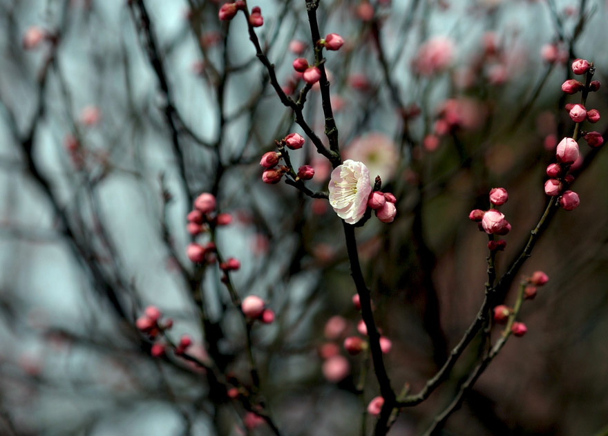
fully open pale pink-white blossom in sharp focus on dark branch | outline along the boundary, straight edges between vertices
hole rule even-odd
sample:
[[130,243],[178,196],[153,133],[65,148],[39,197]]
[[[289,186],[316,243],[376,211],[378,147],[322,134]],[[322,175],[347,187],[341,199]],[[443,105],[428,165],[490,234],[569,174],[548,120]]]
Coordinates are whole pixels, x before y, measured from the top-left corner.
[[345,160],[332,171],[329,188],[330,205],[340,218],[348,224],[363,218],[372,192],[368,167],[361,162]]

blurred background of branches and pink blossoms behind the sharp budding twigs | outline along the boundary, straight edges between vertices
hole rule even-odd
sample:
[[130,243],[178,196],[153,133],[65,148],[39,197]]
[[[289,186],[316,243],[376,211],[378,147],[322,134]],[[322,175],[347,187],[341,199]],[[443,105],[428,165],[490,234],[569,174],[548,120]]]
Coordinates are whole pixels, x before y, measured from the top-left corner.
[[[305,1],[252,6],[281,86],[297,95],[292,61],[312,61]],[[269,86],[243,15],[222,22],[219,8],[0,0],[1,435],[271,434],[240,401],[213,395],[205,371],[171,352],[151,357],[134,327],[155,305],[173,319],[174,341],[191,335],[193,354],[251,385],[245,329],[217,266],[186,256],[186,215],[202,192],[233,217],[214,238],[240,260],[238,294],[276,313],[251,339],[281,434],[370,434],[363,412],[377,381],[369,359],[341,349],[361,319],[341,222],[326,200],[262,182],[261,155],[303,132]],[[509,191],[499,274],[540,218],[544,169],[573,131],[563,107],[580,97],[560,85],[576,57],[602,82],[587,108],[606,111],[606,4],[321,1],[318,17],[322,35],[345,39],[325,53],[343,157],[368,164],[397,197],[395,221],[372,217],[357,238],[392,341],[393,387],[416,391],[484,296],[487,238],[468,212],[488,208],[492,187]],[[314,88],[304,115],[325,140]],[[582,129],[605,136],[606,126]],[[538,269],[550,278],[524,304],[529,331],[507,343],[444,435],[608,434],[608,157],[584,140],[580,149],[581,205],[555,214],[515,281]],[[331,167],[310,141],[291,157],[314,167],[312,189],[327,189]],[[333,316],[343,328],[325,328]],[[348,362],[338,379],[323,371],[327,343]],[[421,434],[480,344],[390,434]]]

